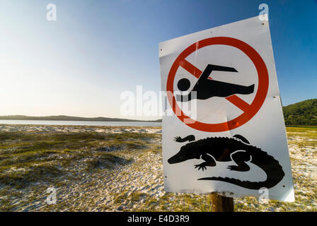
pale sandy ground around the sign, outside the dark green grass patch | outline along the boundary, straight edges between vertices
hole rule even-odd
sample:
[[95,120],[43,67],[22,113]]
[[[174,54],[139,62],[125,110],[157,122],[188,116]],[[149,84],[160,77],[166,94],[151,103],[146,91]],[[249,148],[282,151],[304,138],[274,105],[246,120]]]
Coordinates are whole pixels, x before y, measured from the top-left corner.
[[[153,145],[161,145],[161,128],[113,126],[28,126],[0,125],[0,131],[37,133],[155,133]],[[317,211],[317,130],[288,131],[296,201],[259,203],[255,198],[235,198],[236,211]],[[309,143],[307,143],[309,142]],[[54,182],[37,182],[23,189],[0,185],[0,201],[11,211],[209,211],[207,196],[167,194],[163,191],[161,152],[113,150],[129,164],[115,163],[112,169],[86,172],[78,162]],[[84,161],[84,160],[83,160]],[[10,170],[23,170],[12,168]],[[56,189],[56,204],[47,203],[47,188]],[[3,202],[4,203],[4,202]],[[4,205],[4,204],[2,204]],[[3,208],[2,210],[6,210]]]

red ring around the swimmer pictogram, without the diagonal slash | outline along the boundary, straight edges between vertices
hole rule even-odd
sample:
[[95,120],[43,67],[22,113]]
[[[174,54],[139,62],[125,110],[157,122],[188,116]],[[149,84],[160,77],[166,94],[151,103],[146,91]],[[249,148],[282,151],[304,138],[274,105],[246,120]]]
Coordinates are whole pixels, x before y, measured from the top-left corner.
[[[251,61],[253,61],[253,64],[255,65],[255,69],[258,72],[258,91],[255,95],[255,98],[248,107],[248,110],[246,112],[243,112],[243,114],[239,115],[235,119],[232,119],[231,121],[226,121],[219,124],[207,124],[200,121],[194,121],[193,123],[185,123],[185,119],[190,119],[178,106],[177,102],[175,101],[174,90],[173,90],[173,84],[174,84],[174,78],[176,71],[178,70],[178,67],[182,63],[182,61],[185,61],[186,57],[188,57],[192,52],[195,52],[197,49],[200,49],[202,47],[207,47],[212,44],[224,44],[229,45],[231,47],[236,47],[237,49],[240,49],[243,53],[245,53]],[[267,95],[267,90],[269,87],[269,76],[267,72],[267,67],[265,66],[265,63],[260,57],[260,54],[253,49],[253,47],[250,47],[250,45],[246,44],[246,42],[242,42],[241,40],[237,40],[232,37],[209,37],[204,40],[200,40],[198,42],[195,42],[194,44],[190,45],[190,47],[186,48],[174,61],[170,72],[168,73],[168,79],[167,79],[167,87],[166,90],[169,91],[168,93],[168,102],[170,103],[173,112],[175,115],[180,119],[180,121],[183,121],[184,124],[192,127],[193,129],[197,129],[200,131],[205,132],[222,132],[222,131],[229,131],[231,129],[236,129],[239,126],[242,126],[247,121],[249,121],[253,116],[258,112],[260,107],[263,105],[263,102],[265,100],[265,97]],[[175,105],[173,105],[175,103]],[[180,114],[176,114],[176,112],[179,112]],[[190,119],[193,120],[193,119]]]

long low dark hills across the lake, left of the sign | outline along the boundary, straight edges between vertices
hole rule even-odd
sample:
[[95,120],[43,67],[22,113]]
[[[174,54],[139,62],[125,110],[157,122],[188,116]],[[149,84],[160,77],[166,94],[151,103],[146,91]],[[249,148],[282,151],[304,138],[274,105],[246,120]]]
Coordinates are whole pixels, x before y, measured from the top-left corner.
[[[132,119],[118,119],[118,118],[105,118],[105,117],[71,117],[66,115],[57,116],[45,116],[45,117],[34,117],[25,115],[7,115],[0,116],[1,120],[47,120],[47,121],[144,121],[144,120],[132,120]],[[161,119],[153,121],[162,121]]]

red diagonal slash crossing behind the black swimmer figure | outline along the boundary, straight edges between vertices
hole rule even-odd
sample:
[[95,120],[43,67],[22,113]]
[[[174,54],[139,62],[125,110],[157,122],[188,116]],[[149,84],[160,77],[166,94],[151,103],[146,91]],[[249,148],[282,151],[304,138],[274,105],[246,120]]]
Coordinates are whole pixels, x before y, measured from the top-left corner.
[[[202,71],[200,71],[200,69],[197,69],[197,67],[190,64],[190,62],[188,62],[185,59],[180,61],[180,66],[182,66],[183,69],[191,73],[196,78],[200,78],[200,75],[202,74]],[[210,76],[209,78],[212,79]],[[229,102],[231,102],[231,104],[243,110],[243,112],[248,111],[248,109],[250,108],[250,105],[244,100],[242,100],[240,97],[238,97],[237,95],[231,95],[230,97],[226,97],[226,100],[228,100]]]

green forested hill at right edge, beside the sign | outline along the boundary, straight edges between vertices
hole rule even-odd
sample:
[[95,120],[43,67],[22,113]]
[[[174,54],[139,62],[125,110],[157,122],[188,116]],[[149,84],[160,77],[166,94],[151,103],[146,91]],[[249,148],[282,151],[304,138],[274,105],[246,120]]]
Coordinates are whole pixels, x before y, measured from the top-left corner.
[[317,126],[317,99],[283,107],[286,125]]

